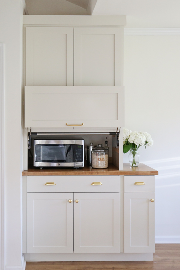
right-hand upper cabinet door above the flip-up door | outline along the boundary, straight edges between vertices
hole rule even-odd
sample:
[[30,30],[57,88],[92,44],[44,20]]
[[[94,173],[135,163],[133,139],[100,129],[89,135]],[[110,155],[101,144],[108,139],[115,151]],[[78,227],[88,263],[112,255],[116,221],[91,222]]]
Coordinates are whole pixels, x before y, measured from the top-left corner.
[[123,85],[123,28],[74,28],[74,85]]

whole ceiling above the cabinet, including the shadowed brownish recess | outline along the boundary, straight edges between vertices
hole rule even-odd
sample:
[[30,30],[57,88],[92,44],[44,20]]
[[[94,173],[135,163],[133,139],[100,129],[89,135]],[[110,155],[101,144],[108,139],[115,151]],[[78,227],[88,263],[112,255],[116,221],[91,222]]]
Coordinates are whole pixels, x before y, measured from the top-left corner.
[[26,4],[30,15],[126,15],[130,28],[180,27],[180,0],[26,0]]

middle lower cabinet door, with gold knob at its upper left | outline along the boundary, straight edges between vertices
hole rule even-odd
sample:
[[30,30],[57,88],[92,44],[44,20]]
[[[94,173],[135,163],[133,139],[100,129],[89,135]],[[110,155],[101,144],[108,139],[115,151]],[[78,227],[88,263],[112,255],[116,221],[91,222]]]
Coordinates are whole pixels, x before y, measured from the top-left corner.
[[119,252],[119,193],[74,193],[74,253]]

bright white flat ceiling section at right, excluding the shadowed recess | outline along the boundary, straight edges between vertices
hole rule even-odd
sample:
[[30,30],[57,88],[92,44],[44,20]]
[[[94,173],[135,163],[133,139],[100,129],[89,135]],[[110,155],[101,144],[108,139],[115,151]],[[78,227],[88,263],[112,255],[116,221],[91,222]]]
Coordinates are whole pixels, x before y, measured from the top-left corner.
[[126,27],[180,27],[180,0],[98,0],[92,15],[127,15]]

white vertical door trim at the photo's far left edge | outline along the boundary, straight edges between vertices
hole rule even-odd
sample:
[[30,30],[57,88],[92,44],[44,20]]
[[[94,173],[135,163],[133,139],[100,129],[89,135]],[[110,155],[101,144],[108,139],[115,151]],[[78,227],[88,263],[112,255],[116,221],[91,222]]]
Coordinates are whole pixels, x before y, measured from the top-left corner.
[[0,43],[0,269],[4,270],[4,44]]

